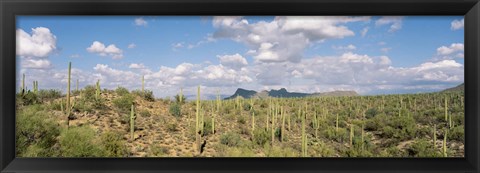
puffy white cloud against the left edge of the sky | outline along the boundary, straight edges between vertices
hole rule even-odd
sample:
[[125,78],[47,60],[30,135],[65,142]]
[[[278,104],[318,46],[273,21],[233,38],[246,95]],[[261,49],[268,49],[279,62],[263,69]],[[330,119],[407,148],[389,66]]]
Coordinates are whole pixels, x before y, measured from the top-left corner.
[[57,48],[57,37],[48,28],[32,28],[31,35],[17,29],[16,34],[17,56],[47,58]]

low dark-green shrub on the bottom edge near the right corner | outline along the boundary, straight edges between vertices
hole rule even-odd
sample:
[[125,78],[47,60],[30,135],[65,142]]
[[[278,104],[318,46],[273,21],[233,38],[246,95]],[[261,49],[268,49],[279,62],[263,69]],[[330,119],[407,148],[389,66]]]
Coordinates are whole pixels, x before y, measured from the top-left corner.
[[406,151],[411,157],[442,157],[442,153],[425,139],[416,140]]

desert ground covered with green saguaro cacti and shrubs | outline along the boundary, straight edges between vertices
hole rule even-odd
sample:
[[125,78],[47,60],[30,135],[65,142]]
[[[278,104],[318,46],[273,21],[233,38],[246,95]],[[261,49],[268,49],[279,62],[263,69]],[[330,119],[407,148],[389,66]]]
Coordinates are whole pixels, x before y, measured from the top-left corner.
[[[463,157],[464,92],[187,100],[22,86],[19,157]],[[73,86],[73,85],[72,85]]]

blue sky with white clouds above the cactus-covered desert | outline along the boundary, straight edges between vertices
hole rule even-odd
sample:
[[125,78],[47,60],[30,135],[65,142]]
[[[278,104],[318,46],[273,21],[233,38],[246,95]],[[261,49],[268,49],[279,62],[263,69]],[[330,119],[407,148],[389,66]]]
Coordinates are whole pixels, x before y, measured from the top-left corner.
[[[418,93],[464,80],[463,16],[20,16],[17,85]],[[17,87],[18,88],[18,87]],[[202,95],[203,95],[202,94]]]

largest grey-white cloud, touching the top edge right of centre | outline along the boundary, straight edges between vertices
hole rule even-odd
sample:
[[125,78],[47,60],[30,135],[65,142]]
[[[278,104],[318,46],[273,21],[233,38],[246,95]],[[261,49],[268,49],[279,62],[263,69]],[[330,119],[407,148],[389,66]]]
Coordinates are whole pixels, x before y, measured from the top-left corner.
[[369,21],[370,17],[280,16],[271,22],[250,23],[243,17],[214,17],[213,38],[228,38],[246,44],[258,62],[296,62],[315,42],[355,35],[345,24]]

